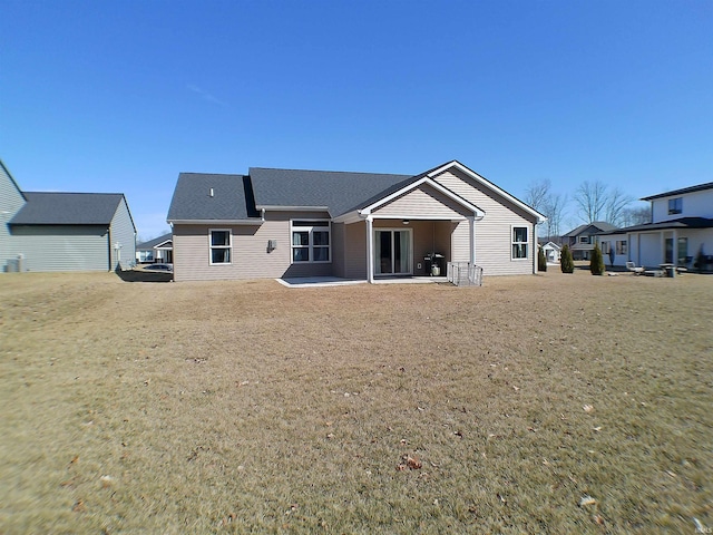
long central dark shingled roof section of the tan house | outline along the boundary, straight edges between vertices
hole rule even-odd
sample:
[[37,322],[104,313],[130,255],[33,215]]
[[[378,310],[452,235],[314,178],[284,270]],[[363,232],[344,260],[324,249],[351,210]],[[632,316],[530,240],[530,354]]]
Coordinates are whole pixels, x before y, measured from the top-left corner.
[[413,178],[410,175],[349,173],[332,171],[296,171],[251,167],[250,177],[256,206],[326,206],[336,217],[395,184]]

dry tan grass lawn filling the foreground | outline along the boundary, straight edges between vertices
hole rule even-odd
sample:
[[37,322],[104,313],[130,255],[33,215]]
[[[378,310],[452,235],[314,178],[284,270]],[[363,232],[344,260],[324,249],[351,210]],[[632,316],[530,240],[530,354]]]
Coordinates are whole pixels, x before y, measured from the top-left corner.
[[0,276],[0,532],[711,527],[712,302],[704,275]]

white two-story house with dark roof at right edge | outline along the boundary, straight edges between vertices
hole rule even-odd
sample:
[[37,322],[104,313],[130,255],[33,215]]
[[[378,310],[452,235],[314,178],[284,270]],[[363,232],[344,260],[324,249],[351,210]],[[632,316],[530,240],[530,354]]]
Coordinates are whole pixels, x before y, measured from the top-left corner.
[[[668,263],[713,269],[713,182],[642,201],[651,202],[652,222],[599,234],[597,239],[605,259],[613,244],[625,241],[627,250],[616,251],[615,265],[632,261],[646,268]],[[695,265],[699,255],[703,265]]]

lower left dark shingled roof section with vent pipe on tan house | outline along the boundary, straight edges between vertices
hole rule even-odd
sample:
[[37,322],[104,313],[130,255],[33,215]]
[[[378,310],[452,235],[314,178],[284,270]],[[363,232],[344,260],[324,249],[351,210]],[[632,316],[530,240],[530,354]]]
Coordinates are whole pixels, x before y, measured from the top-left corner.
[[250,178],[243,175],[180,173],[167,220],[257,218],[252,196]]

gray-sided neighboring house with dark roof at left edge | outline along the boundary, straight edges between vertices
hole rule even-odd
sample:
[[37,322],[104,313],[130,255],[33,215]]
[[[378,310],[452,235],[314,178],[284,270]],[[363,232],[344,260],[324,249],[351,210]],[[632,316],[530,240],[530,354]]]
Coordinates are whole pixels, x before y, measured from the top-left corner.
[[0,162],[0,271],[114,271],[135,257],[124,194],[22,192]]

